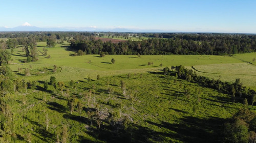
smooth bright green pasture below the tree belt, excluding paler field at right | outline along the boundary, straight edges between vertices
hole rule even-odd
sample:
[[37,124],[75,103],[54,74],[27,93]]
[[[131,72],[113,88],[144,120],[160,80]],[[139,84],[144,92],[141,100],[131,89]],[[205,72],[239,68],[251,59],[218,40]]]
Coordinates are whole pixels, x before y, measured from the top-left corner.
[[[54,75],[59,77],[59,80],[69,81],[88,78],[88,76],[96,79],[98,74],[103,77],[127,73],[145,73],[163,69],[166,66],[191,67],[208,64],[244,63],[232,56],[216,55],[141,55],[140,58],[137,55],[106,55],[104,58],[99,57],[99,55],[72,56],[74,51],[68,49],[68,43],[47,48],[46,42],[38,42],[37,47],[41,52],[43,48],[48,49],[51,58],[48,59],[47,56],[43,56],[38,51],[37,62],[23,63],[22,61],[26,59],[25,52],[22,51],[22,47],[18,47],[12,55],[11,69],[17,71],[18,68],[30,68],[34,74],[27,77],[29,80],[46,80]],[[115,59],[115,64],[111,63],[111,59]],[[153,65],[148,66],[148,62],[153,63]],[[160,67],[160,64],[163,67]],[[61,67],[61,72],[36,74],[44,68],[53,69],[54,65]]]

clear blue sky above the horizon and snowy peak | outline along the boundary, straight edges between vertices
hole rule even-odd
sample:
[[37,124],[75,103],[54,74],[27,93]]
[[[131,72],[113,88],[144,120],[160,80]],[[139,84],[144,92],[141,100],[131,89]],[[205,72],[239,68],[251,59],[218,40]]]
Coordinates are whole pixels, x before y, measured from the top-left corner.
[[256,1],[3,1],[0,26],[256,33]]

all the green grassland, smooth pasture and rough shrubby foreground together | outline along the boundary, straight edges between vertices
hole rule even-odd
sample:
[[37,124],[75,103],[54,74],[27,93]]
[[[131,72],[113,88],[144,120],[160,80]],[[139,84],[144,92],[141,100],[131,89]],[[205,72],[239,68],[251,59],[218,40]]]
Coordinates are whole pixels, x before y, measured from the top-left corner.
[[[45,46],[46,42],[37,43],[39,51]],[[100,58],[99,55],[72,56],[74,51],[68,49],[68,43],[47,49],[50,59],[38,52],[38,61],[30,63],[23,63],[26,56],[22,47],[14,50],[11,69],[20,78],[36,80],[36,89],[28,92],[20,89],[1,97],[11,106],[10,130],[16,135],[0,137],[0,142],[56,142],[58,138],[61,141],[63,126],[68,128],[67,142],[72,143],[220,142],[223,124],[244,106],[231,102],[230,95],[174,76],[164,76],[161,70],[166,66],[193,66],[199,75],[209,78],[229,82],[241,78],[243,84],[251,88],[256,81],[255,62],[249,61],[255,53],[141,55],[141,58],[106,55]],[[112,58],[115,64],[111,63]],[[148,62],[153,65],[148,66]],[[61,68],[53,72],[54,65]],[[18,71],[20,68],[22,70]],[[24,75],[26,68],[30,69],[30,76]],[[98,74],[100,80],[95,80]],[[63,94],[53,85],[44,89],[42,81],[49,82],[51,76],[64,81]],[[94,80],[88,81],[89,76]],[[76,88],[70,87],[70,80],[75,81]],[[120,88],[121,80],[126,84],[125,96]],[[184,90],[187,88],[189,94]],[[72,113],[68,104],[71,99],[74,101]],[[83,106],[81,113],[78,102]],[[120,108],[116,103],[121,103]],[[254,106],[248,107],[255,110]],[[100,129],[95,120],[91,125],[88,115],[88,111],[97,110]],[[122,126],[112,127],[108,119],[111,112],[119,113],[119,122],[124,116],[129,117],[130,128],[124,131]]]

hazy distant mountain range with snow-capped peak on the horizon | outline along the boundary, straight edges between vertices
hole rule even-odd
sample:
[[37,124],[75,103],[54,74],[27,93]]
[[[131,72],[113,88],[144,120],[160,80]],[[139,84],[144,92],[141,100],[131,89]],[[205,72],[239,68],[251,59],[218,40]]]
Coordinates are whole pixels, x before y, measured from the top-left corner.
[[29,23],[24,23],[23,25],[8,28],[0,27],[0,32],[30,32],[30,31],[84,31],[84,32],[166,32],[162,30],[135,30],[129,28],[95,28],[95,27],[80,27],[80,28],[43,28],[32,26]]

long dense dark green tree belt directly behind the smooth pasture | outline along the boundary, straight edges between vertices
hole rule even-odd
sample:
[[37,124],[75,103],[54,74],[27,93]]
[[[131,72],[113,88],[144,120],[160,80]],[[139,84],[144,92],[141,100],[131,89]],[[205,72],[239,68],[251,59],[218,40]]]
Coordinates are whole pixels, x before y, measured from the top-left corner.
[[142,41],[112,43],[92,36],[75,36],[70,47],[86,54],[210,54],[227,55],[256,51],[256,36],[251,35],[176,35],[169,39],[149,38]]

